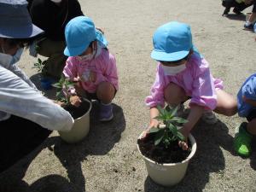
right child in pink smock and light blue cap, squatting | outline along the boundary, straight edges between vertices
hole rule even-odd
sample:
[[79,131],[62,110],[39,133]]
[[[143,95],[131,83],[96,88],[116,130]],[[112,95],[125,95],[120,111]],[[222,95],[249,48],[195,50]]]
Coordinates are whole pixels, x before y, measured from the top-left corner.
[[[236,99],[223,89],[223,82],[214,79],[210,73],[208,62],[196,51],[192,44],[190,27],[187,24],[173,21],[160,26],[153,37],[154,50],[151,57],[158,61],[156,78],[147,96],[146,104],[150,108],[150,123],[148,130],[157,127],[159,122],[156,108],[165,107],[165,102],[171,107],[178,106],[182,110],[183,102],[190,99],[188,123],[184,124],[181,132],[184,137],[194,127],[202,114],[209,123],[216,123],[212,113],[234,115]],[[180,143],[183,149],[187,143]]]

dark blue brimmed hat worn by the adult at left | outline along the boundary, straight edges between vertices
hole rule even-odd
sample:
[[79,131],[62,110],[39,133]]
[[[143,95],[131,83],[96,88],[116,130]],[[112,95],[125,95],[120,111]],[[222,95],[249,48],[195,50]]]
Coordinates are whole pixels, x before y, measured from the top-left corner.
[[32,24],[26,0],[0,0],[0,37],[32,38],[44,32]]

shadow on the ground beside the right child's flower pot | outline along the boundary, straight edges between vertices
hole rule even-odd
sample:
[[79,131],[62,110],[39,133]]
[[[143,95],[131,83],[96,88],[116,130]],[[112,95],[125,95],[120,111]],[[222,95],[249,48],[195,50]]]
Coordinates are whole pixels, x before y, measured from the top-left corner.
[[225,160],[221,148],[233,154],[233,137],[228,127],[221,121],[216,125],[199,122],[192,131],[197,143],[195,156],[190,160],[187,173],[181,183],[171,188],[160,186],[147,177],[144,183],[145,192],[164,191],[202,191],[209,183],[211,172],[224,176]]

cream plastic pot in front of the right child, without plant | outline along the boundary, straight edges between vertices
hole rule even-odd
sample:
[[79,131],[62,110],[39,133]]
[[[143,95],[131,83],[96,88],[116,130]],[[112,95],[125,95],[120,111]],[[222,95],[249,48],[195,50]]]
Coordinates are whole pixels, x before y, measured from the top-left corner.
[[[141,134],[139,138],[141,137],[143,137],[143,134]],[[192,147],[189,156],[182,162],[167,164],[159,164],[154,160],[148,159],[148,157],[145,157],[141,153],[140,148],[137,144],[137,148],[140,154],[143,155],[143,160],[145,161],[147,167],[148,176],[151,177],[155,183],[159,183],[160,185],[167,187],[179,183],[185,176],[189,165],[189,160],[194,156],[196,151],[195,138],[191,134],[189,134],[189,142],[191,143]]]

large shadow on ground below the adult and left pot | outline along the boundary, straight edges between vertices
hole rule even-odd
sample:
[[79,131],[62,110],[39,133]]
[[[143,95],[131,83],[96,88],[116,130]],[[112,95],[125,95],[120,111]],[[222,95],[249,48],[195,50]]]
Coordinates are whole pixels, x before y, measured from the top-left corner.
[[[0,174],[0,192],[86,191],[86,179],[82,172],[81,162],[87,160],[88,154],[107,154],[114,144],[119,142],[121,133],[125,131],[125,116],[122,108],[113,104],[114,119],[107,123],[97,120],[98,110],[97,102],[93,102],[90,113],[90,132],[81,143],[67,144],[62,142],[60,137],[49,137],[31,154]],[[49,148],[61,161],[61,164],[67,169],[69,181],[59,175],[41,177],[31,185],[22,180],[28,166],[43,148]]]

